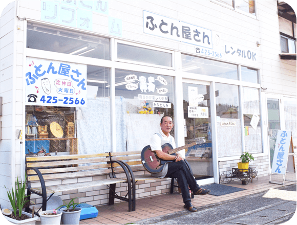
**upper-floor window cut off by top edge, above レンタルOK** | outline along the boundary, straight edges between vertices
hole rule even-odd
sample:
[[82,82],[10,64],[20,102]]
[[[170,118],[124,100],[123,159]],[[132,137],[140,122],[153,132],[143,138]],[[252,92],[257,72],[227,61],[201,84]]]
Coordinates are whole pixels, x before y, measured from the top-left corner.
[[[213,0],[214,1],[214,0]],[[251,15],[256,15],[255,1],[250,0],[216,0],[217,3],[235,10],[241,10]]]

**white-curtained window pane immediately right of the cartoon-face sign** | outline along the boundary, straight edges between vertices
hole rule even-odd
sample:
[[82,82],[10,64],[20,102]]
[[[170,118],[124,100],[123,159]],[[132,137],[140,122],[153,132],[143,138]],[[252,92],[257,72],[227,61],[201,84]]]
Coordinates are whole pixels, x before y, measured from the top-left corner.
[[77,108],[80,154],[111,151],[110,69],[87,66],[87,107]]

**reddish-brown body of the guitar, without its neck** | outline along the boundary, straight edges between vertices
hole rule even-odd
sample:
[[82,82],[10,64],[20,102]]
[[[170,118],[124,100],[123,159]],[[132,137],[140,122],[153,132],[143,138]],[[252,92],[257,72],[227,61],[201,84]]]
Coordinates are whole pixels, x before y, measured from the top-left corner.
[[[168,151],[172,149],[173,147],[169,143],[165,143],[164,145],[162,145],[162,151],[165,153],[168,153]],[[175,155],[175,153],[173,153],[172,155]],[[158,158],[157,154],[151,150],[151,146],[147,145],[141,151],[141,162],[144,168],[150,173],[158,173],[162,171],[166,163],[175,161],[167,161]]]

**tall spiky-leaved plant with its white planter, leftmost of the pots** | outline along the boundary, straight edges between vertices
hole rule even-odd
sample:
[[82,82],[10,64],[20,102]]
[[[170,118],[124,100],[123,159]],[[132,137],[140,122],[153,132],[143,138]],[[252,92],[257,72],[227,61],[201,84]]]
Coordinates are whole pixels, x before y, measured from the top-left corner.
[[[25,181],[26,181],[26,177],[27,175],[25,175]],[[11,193],[10,191],[7,190],[7,188],[6,188],[6,191],[7,191],[8,198],[10,200],[12,212],[9,209],[3,209],[2,212],[4,217],[12,224],[34,225],[36,220],[39,219],[39,217],[34,215],[34,212],[32,214],[29,214],[22,211],[25,205],[27,203],[29,204],[29,200],[27,200],[28,196],[25,196],[25,191],[26,191],[25,182],[22,182],[22,181],[19,182],[18,177],[16,177],[15,192],[12,189],[12,193]]]

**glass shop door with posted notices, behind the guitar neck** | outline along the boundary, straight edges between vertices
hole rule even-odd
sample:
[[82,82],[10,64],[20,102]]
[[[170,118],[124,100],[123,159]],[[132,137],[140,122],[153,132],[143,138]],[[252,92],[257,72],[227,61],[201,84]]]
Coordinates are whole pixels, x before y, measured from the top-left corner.
[[196,180],[210,178],[207,183],[214,183],[210,86],[208,82],[193,82],[183,81],[184,140],[190,144],[204,138],[206,143],[185,149],[186,160]]

